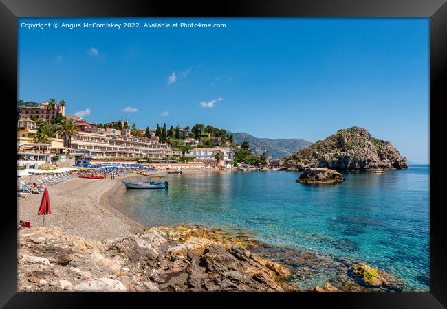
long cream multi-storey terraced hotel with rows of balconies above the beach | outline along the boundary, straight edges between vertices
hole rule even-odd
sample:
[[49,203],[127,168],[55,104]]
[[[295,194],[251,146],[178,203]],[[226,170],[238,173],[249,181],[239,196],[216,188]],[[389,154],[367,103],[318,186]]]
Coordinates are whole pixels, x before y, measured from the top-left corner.
[[180,151],[173,151],[171,146],[160,143],[158,139],[133,137],[128,130],[98,129],[79,130],[72,137],[72,154],[91,153],[91,159],[101,158],[154,158],[177,157]]

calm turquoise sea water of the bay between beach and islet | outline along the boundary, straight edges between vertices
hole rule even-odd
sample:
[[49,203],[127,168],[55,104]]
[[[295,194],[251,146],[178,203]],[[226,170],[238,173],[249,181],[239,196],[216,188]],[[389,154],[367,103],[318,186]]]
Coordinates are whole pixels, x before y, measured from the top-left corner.
[[401,277],[410,290],[428,289],[428,169],[347,172],[345,183],[318,186],[296,183],[300,172],[168,175],[169,190],[127,190],[117,209],[146,226],[222,227],[360,259]]

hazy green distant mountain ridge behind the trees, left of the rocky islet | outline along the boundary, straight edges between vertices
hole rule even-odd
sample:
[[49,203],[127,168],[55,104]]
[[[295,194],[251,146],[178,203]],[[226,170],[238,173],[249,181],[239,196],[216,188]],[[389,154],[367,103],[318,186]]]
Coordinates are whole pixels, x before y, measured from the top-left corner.
[[304,139],[264,139],[254,137],[248,133],[231,133],[233,135],[233,141],[241,144],[243,141],[248,141],[250,144],[250,150],[255,155],[261,155],[263,152],[267,153],[272,159],[279,159],[287,157],[296,153],[309,145],[312,145],[309,141]]

